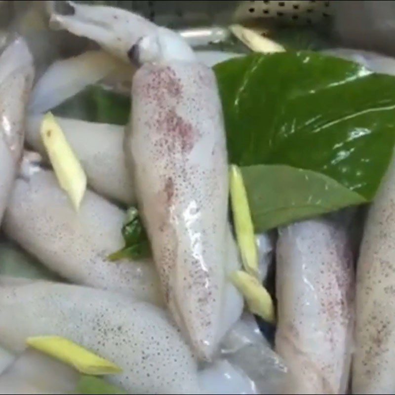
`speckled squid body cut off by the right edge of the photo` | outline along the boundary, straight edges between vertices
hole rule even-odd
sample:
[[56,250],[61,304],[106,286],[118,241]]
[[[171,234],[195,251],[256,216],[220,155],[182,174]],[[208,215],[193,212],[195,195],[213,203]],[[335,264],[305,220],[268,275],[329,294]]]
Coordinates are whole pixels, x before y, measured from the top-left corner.
[[369,209],[356,274],[353,394],[394,394],[394,161]]

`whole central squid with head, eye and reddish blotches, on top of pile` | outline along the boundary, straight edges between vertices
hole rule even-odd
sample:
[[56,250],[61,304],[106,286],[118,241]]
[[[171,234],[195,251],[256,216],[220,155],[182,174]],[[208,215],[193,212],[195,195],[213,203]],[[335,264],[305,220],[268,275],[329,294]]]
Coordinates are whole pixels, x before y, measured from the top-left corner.
[[237,303],[224,308],[232,287],[228,164],[215,76],[175,32],[124,10],[69,5],[70,15],[52,15],[52,25],[142,66],[125,154],[165,301],[197,356],[210,359],[224,322],[242,310],[236,291]]

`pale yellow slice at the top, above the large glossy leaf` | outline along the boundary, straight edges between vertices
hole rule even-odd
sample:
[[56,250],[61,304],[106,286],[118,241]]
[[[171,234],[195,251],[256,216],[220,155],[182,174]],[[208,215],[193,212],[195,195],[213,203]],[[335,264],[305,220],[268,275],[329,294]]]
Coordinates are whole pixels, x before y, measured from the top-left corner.
[[247,45],[248,48],[254,52],[272,53],[285,51],[282,45],[267,37],[263,37],[254,29],[245,28],[241,25],[231,25],[229,29],[238,40]]

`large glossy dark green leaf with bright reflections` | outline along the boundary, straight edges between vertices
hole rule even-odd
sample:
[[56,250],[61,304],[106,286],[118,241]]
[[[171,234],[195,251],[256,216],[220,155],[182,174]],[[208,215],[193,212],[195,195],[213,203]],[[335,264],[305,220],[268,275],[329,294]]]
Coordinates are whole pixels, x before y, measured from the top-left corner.
[[253,54],[214,70],[233,163],[313,170],[374,197],[395,142],[394,77],[314,52]]

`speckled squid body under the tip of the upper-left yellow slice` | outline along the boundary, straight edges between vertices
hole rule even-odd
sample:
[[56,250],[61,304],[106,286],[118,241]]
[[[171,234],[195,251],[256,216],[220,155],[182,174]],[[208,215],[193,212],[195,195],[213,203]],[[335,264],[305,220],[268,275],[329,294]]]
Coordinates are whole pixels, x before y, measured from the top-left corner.
[[54,173],[27,161],[6,209],[3,229],[66,279],[161,303],[152,262],[107,260],[123,245],[124,218],[121,209],[89,190],[77,213]]

